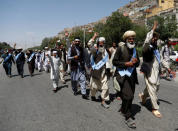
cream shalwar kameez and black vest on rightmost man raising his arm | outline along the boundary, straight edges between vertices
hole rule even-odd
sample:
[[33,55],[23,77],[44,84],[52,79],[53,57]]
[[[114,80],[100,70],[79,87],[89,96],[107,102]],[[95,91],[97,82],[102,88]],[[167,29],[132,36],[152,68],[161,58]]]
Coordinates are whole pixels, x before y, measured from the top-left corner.
[[152,108],[159,109],[157,103],[157,91],[160,85],[160,64],[161,58],[157,47],[151,45],[153,38],[153,30],[147,34],[147,38],[143,45],[143,64],[141,71],[144,73],[146,88],[143,92],[143,100],[147,97],[151,98]]

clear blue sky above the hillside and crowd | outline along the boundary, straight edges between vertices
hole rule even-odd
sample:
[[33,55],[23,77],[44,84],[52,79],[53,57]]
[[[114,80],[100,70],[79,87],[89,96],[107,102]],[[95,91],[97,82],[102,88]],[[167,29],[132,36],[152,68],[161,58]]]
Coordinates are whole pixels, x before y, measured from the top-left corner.
[[0,42],[23,48],[64,28],[95,22],[131,0],[0,0]]

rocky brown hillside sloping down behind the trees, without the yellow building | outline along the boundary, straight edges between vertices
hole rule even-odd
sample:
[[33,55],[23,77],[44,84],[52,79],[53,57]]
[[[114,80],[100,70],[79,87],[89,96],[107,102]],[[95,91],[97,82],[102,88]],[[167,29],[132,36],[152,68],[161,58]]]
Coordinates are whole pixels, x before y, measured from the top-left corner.
[[[144,25],[145,24],[145,17],[143,17],[145,15],[145,12],[148,8],[152,8],[154,6],[157,6],[157,0],[135,0],[133,2],[130,2],[129,4],[119,8],[118,12],[120,12],[121,14],[130,17],[130,19],[134,22],[134,23],[139,23]],[[81,25],[81,26],[76,26],[76,27],[72,27],[72,28],[65,28],[64,30],[60,31],[57,35],[57,37],[64,38],[64,33],[67,31],[69,33],[72,33],[73,31],[75,31],[76,29],[80,28],[80,29],[90,29],[93,28],[94,25],[96,25],[97,23],[105,23],[108,17],[104,17],[96,22],[92,22],[86,25]]]

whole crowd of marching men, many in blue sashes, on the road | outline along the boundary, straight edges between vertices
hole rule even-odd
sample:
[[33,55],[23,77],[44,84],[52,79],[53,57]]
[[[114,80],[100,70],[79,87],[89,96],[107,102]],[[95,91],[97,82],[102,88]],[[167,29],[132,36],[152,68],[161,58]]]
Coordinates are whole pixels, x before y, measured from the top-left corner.
[[[140,71],[144,74],[146,88],[143,93],[139,94],[139,97],[142,104],[145,104],[147,98],[150,97],[153,115],[161,118],[156,94],[160,85],[163,58],[157,45],[159,38],[159,34],[155,32],[157,25],[158,23],[155,22],[143,45],[143,63]],[[57,92],[59,78],[65,83],[65,71],[70,71],[73,94],[77,95],[78,87],[80,87],[82,98],[89,99],[86,91],[86,82],[89,80],[91,100],[97,101],[96,93],[101,91],[101,105],[106,109],[109,108],[107,101],[110,100],[108,81],[113,78],[116,96],[122,100],[119,111],[125,117],[128,127],[136,128],[131,112],[135,86],[138,84],[136,68],[140,64],[135,38],[134,31],[126,31],[123,35],[123,42],[118,45],[113,43],[113,46],[108,49],[105,38],[98,37],[98,33],[94,33],[87,44],[88,48],[81,46],[80,38],[76,37],[71,44],[67,39],[66,50],[60,41],[57,41],[56,48],[52,50],[49,50],[48,47],[45,47],[43,52],[29,50],[26,55],[30,75],[33,75],[35,68],[39,71],[43,69],[46,72],[50,71],[53,91]],[[25,54],[20,48],[14,49],[14,52],[18,73],[23,77]],[[5,54],[6,56],[2,56],[4,58],[3,66],[9,76],[11,70],[6,69],[11,67],[14,60],[11,52]],[[169,64],[165,64],[166,62],[164,61],[164,67],[169,73],[172,73]]]

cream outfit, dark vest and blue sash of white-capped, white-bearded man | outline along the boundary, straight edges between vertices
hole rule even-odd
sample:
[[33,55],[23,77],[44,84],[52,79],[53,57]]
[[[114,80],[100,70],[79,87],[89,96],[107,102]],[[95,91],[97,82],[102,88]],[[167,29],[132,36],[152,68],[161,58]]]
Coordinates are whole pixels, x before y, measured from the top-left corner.
[[[95,97],[96,92],[101,90],[101,98],[104,101],[109,101],[109,88],[108,88],[108,76],[107,69],[111,69],[109,61],[109,54],[103,47],[103,52],[100,52],[94,47],[94,41],[91,39],[88,46],[91,47],[91,79],[90,79],[90,91],[91,97]],[[103,61],[102,66],[98,66]],[[96,67],[96,68],[95,68]]]

